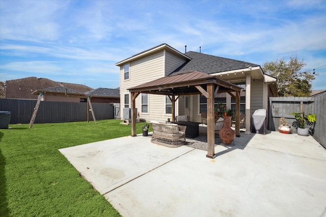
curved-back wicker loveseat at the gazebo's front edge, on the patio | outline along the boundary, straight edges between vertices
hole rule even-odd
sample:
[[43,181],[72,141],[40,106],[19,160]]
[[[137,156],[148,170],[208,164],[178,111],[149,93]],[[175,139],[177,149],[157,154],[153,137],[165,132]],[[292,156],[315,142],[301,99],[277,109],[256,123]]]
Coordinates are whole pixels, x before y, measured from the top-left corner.
[[153,130],[152,143],[167,147],[180,147],[185,144],[186,126],[151,121]]

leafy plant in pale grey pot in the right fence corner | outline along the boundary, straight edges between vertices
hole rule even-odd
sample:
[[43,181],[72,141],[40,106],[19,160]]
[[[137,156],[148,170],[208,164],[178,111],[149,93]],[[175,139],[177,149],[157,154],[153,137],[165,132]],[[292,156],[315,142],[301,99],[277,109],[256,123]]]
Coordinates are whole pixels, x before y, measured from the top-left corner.
[[316,114],[305,115],[303,112],[292,112],[291,115],[294,115],[296,119],[293,127],[297,127],[297,134],[308,136],[310,127],[306,128],[306,125],[312,126],[316,122]]

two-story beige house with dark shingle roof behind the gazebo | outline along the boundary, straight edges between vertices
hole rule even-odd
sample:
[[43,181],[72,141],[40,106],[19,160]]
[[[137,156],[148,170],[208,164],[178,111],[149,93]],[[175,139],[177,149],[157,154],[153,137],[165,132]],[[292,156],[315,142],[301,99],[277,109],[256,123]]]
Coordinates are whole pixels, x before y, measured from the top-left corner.
[[[246,133],[250,134],[250,119],[256,109],[268,109],[268,97],[277,96],[276,78],[263,73],[257,64],[208,55],[200,52],[182,53],[167,44],[160,44],[135,54],[116,64],[120,67],[121,118],[123,108],[130,108],[129,88],[187,72],[201,72],[244,87],[240,94],[240,112],[246,114]],[[235,110],[235,100],[229,94],[216,94],[219,103]],[[135,100],[140,118],[146,121],[165,122],[171,118],[172,102],[168,96],[141,94]],[[175,104],[175,115],[188,115],[192,121],[201,122],[207,103],[203,95],[184,95]]]

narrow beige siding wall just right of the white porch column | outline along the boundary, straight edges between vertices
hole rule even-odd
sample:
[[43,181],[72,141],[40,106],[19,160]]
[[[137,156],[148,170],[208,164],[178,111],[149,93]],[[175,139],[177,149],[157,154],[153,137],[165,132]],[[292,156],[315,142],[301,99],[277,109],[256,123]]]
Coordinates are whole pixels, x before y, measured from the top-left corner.
[[263,108],[263,82],[251,79],[250,113]]

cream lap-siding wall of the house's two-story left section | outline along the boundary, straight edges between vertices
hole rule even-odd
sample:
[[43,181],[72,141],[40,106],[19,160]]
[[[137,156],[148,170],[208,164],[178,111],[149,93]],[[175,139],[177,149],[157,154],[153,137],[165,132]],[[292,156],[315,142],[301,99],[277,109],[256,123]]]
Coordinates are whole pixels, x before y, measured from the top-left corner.
[[[161,77],[165,77],[177,69],[185,60],[174,56],[165,50],[158,51],[141,59],[131,61],[129,68],[129,80],[124,80],[124,67],[120,66],[120,111],[123,118],[124,95],[129,94],[129,107],[131,107],[130,93],[127,88],[143,84]],[[179,101],[179,100],[178,100]],[[176,115],[178,115],[179,103],[176,102]],[[166,114],[166,96],[148,95],[148,113],[142,112],[142,97],[135,100],[135,107],[141,119],[146,121],[167,121],[171,114]],[[184,104],[183,104],[184,107]]]

